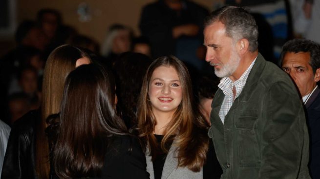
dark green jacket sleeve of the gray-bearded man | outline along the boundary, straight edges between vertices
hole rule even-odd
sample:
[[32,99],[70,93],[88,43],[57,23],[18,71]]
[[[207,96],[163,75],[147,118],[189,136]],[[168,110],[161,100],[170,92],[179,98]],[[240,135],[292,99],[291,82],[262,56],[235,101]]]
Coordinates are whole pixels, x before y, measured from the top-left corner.
[[309,144],[302,102],[292,86],[272,85],[264,99],[259,179],[296,179],[308,160]]

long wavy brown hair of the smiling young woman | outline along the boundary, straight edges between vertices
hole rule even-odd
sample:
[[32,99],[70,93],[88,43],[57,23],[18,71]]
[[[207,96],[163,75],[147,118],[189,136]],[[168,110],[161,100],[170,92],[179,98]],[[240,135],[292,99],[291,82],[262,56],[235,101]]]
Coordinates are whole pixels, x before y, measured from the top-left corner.
[[[171,122],[164,131],[160,146],[153,135],[156,119],[148,100],[148,88],[152,73],[160,66],[173,67],[180,79],[182,102],[173,114]],[[152,160],[159,149],[168,152],[166,143],[174,136],[173,145],[177,146],[178,167],[188,167],[199,172],[207,159],[209,138],[208,125],[193,102],[192,83],[187,67],[174,56],[157,58],[149,66],[144,77],[138,101],[138,132],[144,151],[149,149]]]

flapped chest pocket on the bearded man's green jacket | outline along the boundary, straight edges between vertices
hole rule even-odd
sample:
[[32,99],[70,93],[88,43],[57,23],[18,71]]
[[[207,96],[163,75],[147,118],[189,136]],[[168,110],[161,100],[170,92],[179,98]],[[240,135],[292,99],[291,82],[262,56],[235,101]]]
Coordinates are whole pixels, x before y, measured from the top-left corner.
[[259,148],[255,133],[257,111],[242,111],[235,122],[237,131],[237,150],[239,164],[242,167],[260,165]]

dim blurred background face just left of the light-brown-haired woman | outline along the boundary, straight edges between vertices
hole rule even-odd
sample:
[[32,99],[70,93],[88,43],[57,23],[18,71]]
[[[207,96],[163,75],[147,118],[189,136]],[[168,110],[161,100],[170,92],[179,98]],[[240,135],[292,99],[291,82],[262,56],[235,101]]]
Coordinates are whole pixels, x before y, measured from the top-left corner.
[[34,94],[38,90],[38,74],[32,70],[24,70],[21,74],[20,86],[23,92]]

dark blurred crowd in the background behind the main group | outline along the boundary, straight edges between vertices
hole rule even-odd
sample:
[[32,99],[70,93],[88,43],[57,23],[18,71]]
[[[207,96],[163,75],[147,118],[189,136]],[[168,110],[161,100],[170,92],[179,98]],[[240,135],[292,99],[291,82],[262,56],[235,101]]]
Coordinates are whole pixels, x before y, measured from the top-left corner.
[[[318,28],[315,21],[320,17],[316,0],[226,0],[216,2],[214,7],[224,4],[250,9],[259,28],[258,40],[263,42],[259,43],[259,52],[277,65],[281,46],[288,39],[312,37],[319,42],[319,36],[313,35]],[[131,27],[117,23],[108,28],[103,43],[99,44],[64,24],[59,10],[41,9],[35,19],[19,24],[16,47],[1,57],[0,119],[11,125],[27,111],[40,107],[44,64],[52,50],[63,44],[84,48],[113,69],[118,106],[125,111],[125,120],[134,119],[142,76],[152,59],[159,56],[173,54],[181,59],[192,74],[197,99],[212,99],[206,92],[198,94],[210,89],[203,80],[214,84],[218,81],[204,60],[203,19],[208,13],[206,8],[189,0],[157,0],[141,9],[140,36],[134,35]],[[210,90],[213,94],[216,88]],[[126,122],[128,126],[130,123]]]

